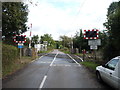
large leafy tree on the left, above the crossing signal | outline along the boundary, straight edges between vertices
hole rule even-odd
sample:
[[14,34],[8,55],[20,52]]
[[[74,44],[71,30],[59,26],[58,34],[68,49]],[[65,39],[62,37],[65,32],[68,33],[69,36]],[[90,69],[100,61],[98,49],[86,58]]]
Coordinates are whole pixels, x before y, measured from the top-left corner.
[[22,34],[27,31],[28,6],[22,2],[2,3],[2,35],[6,41],[12,41],[14,34]]

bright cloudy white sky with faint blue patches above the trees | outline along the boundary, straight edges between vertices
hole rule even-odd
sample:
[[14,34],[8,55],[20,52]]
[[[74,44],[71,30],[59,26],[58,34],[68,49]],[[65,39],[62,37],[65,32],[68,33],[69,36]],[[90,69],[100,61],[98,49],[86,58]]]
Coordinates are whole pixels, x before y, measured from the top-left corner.
[[104,30],[107,8],[118,0],[29,0],[28,22],[30,28],[25,34],[51,34],[54,40],[66,35],[73,37],[77,31]]

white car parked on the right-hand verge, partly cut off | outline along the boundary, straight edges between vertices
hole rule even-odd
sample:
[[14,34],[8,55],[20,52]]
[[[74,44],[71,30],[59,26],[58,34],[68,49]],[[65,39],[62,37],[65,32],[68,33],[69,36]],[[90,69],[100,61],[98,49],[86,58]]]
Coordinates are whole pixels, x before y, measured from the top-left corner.
[[98,81],[104,81],[120,90],[120,56],[111,59],[105,65],[97,66],[96,76]]

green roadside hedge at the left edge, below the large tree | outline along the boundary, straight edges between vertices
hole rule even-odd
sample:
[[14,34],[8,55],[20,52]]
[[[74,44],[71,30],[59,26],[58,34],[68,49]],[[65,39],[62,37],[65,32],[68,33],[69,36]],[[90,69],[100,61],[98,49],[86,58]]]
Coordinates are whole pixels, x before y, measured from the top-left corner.
[[2,45],[2,64],[3,69],[7,65],[11,65],[19,57],[18,49],[15,46],[11,45]]

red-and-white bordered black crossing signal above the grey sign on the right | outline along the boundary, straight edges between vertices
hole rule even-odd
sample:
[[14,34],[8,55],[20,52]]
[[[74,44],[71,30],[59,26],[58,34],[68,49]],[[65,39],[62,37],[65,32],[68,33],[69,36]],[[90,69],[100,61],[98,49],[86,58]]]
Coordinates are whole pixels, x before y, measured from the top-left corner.
[[84,30],[84,39],[98,39],[98,31],[97,29]]

